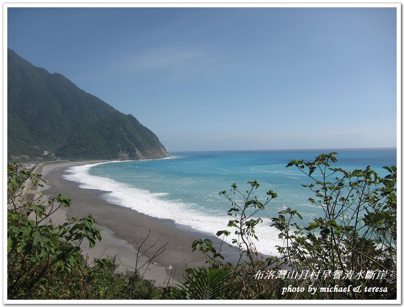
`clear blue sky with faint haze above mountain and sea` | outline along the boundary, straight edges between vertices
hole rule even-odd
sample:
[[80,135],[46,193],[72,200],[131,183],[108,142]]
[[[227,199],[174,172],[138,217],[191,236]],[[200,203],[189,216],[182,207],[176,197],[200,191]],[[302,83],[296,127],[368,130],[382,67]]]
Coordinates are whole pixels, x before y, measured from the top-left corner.
[[169,152],[397,146],[396,8],[7,9],[7,46]]

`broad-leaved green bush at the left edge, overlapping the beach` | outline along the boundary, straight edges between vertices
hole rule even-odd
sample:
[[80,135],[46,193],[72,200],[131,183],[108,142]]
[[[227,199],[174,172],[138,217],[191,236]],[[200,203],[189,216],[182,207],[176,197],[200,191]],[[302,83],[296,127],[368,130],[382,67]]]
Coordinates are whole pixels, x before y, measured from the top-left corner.
[[7,173],[7,286],[9,298],[31,298],[51,271],[69,273],[82,256],[83,239],[94,246],[101,240],[91,215],[73,217],[63,225],[54,225],[49,217],[61,206],[70,207],[71,199],[60,194],[47,201],[42,195],[24,199],[24,183],[40,185],[39,175],[8,165]]

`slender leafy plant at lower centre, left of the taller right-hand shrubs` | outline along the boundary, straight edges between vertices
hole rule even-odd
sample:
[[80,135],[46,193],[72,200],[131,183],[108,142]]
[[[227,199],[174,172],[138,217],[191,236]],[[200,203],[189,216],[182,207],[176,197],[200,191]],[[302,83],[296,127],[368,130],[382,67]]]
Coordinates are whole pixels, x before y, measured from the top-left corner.
[[[258,237],[255,232],[255,227],[258,223],[262,223],[260,217],[255,217],[259,211],[265,209],[265,206],[274,198],[277,194],[272,190],[267,192],[267,197],[260,199],[255,195],[255,191],[259,188],[257,180],[248,181],[248,190],[241,192],[237,185],[234,183],[231,186],[229,192],[222,191],[219,194],[223,195],[228,201],[230,201],[231,207],[227,211],[227,215],[231,217],[227,227],[231,230],[219,230],[216,235],[218,237],[233,235],[232,243],[239,249],[239,260],[236,264],[223,264],[221,260],[224,257],[221,255],[221,248],[217,251],[209,239],[199,239],[192,243],[192,251],[198,249],[206,257],[206,263],[209,264],[209,269],[193,269],[187,270],[184,274],[186,280],[183,287],[188,297],[201,298],[206,294],[206,284],[210,280],[208,276],[216,272],[220,273],[220,279],[222,287],[235,287],[227,289],[227,295],[224,296],[228,299],[251,299],[257,298],[257,296],[266,297],[266,289],[257,281],[254,280],[254,274],[256,270],[265,269],[270,265],[276,263],[276,258],[263,259],[255,248],[255,240]],[[223,244],[223,241],[221,242]],[[233,291],[234,290],[234,291]],[[213,290],[212,290],[213,292]],[[217,292],[216,298],[221,297]]]

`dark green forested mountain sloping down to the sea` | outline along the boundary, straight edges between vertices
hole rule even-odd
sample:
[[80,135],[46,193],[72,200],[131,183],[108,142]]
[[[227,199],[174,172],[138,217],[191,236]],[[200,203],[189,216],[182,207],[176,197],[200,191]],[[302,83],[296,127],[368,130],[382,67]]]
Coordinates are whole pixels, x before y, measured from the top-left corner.
[[35,67],[8,49],[7,154],[68,159],[169,156],[158,137],[79,89],[61,74]]

